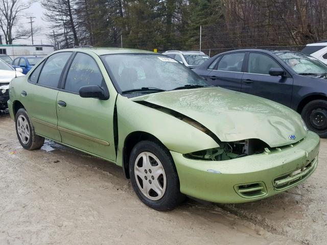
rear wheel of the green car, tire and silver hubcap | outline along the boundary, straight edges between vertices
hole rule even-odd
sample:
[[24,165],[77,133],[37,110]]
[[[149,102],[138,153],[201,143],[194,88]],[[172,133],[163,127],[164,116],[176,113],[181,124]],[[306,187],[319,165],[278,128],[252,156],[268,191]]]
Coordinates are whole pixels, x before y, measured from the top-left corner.
[[16,134],[21,146],[26,150],[40,149],[44,138],[35,134],[33,124],[24,108],[15,116]]

